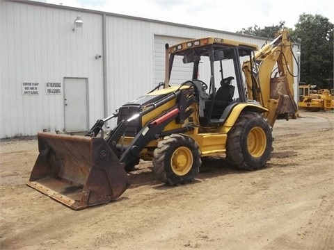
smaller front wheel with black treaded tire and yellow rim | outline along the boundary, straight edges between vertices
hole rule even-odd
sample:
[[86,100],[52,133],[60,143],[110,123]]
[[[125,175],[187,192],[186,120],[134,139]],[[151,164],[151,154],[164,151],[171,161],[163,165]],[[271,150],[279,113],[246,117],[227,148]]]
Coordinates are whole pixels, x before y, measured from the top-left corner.
[[154,150],[153,170],[167,185],[192,182],[200,172],[200,149],[187,135],[172,134],[158,143]]

